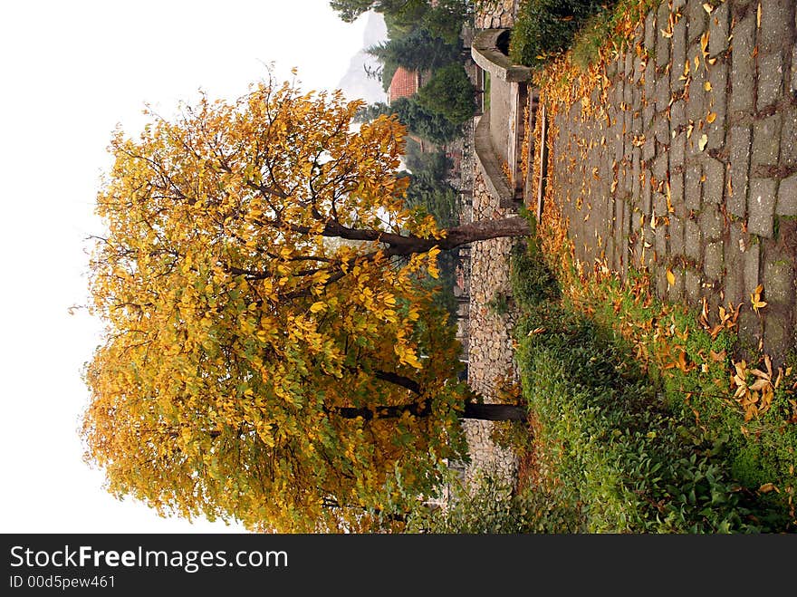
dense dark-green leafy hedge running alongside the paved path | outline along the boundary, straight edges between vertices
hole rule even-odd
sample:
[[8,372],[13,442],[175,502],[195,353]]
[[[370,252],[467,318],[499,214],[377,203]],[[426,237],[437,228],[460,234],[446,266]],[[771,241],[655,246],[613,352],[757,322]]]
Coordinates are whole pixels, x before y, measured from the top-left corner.
[[589,321],[548,303],[517,336],[524,395],[546,428],[543,452],[561,454],[555,477],[582,505],[589,532],[763,530],[721,447],[669,411]]

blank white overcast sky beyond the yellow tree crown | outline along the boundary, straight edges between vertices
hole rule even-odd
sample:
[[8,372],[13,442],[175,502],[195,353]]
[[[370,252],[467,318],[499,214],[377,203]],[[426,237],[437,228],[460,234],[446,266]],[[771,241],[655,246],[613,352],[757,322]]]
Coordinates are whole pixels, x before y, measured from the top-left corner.
[[302,89],[334,89],[362,46],[328,0],[48,0],[0,13],[3,371],[0,533],[186,533],[238,528],[120,502],[82,462],[82,364],[99,325],[86,303],[88,245],[105,149],[145,102],[169,115],[197,89],[235,99],[275,63]]

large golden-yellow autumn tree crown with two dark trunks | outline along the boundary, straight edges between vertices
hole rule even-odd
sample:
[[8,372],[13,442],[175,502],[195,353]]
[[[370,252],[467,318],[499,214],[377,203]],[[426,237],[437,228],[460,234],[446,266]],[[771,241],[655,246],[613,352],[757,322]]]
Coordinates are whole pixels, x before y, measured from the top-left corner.
[[408,208],[404,127],[352,127],[360,107],[264,82],[114,134],[82,438],[115,495],[255,530],[365,528],[397,479],[428,495],[466,457],[459,419],[523,419],[456,382],[417,280],[527,223],[440,229]]

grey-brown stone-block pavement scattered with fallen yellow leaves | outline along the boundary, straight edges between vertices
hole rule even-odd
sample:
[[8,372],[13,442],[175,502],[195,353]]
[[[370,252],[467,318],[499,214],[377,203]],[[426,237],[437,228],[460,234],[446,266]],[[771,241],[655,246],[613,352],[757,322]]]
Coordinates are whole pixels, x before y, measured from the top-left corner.
[[660,297],[696,308],[706,297],[711,313],[746,305],[742,353],[761,343],[774,361],[797,323],[794,5],[665,1],[602,88],[549,106],[546,200],[562,207],[576,257],[648,267]]

